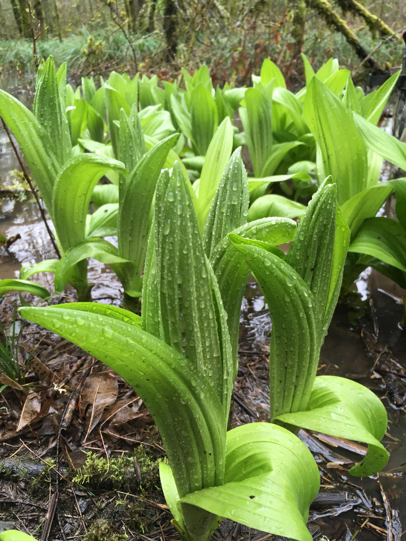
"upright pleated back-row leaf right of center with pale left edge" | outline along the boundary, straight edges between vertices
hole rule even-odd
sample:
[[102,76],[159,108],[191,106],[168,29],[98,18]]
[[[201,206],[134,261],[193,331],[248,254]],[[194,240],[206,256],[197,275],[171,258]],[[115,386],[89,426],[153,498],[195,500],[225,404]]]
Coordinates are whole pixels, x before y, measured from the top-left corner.
[[247,88],[245,108],[240,109],[240,117],[254,175],[260,177],[272,152],[271,104],[259,90]]

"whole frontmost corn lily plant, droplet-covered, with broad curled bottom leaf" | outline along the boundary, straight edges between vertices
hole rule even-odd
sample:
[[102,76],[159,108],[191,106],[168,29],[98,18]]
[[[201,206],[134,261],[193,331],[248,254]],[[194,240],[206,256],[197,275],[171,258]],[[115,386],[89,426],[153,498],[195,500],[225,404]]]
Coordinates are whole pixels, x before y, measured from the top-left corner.
[[[240,192],[243,184],[247,190],[239,156],[230,168]],[[218,238],[243,219],[224,217]],[[279,241],[281,229],[291,237],[294,223],[269,220],[270,239],[271,229]],[[310,541],[306,521],[319,474],[304,444],[267,423],[226,432],[235,374],[227,314],[179,164],[163,171],[156,188],[141,318],[86,303],[20,313],[86,348],[140,393],[165,444],[162,488],[182,539],[208,539],[228,517]]]

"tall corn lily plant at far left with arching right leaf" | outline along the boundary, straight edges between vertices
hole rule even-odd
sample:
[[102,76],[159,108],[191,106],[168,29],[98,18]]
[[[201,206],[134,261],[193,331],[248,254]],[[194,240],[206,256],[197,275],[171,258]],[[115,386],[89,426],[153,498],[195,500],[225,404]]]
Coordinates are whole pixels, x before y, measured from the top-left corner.
[[[78,147],[71,143],[65,98],[66,64],[56,72],[52,57],[38,68],[34,113],[0,91],[0,114],[14,133],[37,182],[62,254],[91,235],[87,230],[87,213],[97,181],[110,170],[126,175],[121,162],[77,153]],[[53,270],[55,265],[56,260],[51,260],[43,270]],[[21,278],[29,275],[26,272]],[[89,297],[86,261],[71,269],[69,282],[78,298]]]

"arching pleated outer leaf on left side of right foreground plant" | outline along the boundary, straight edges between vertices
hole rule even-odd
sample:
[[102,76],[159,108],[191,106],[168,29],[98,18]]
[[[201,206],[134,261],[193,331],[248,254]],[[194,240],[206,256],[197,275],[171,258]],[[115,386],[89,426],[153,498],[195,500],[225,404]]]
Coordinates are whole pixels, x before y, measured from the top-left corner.
[[267,251],[266,243],[260,247],[258,241],[228,237],[251,267],[270,308],[272,420],[280,413],[298,411],[309,399],[309,380],[311,384],[315,378],[321,346],[315,298],[290,265]]

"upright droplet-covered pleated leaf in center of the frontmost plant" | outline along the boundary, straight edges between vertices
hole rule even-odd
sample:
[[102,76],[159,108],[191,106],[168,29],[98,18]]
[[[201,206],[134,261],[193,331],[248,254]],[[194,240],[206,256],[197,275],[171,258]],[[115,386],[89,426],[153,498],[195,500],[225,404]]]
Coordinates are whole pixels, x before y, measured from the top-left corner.
[[219,335],[215,317],[224,308],[215,300],[193,202],[178,163],[171,174],[165,170],[160,176],[155,217],[144,278],[145,328],[159,333],[210,377],[228,414],[230,395],[223,376],[233,371],[231,348],[224,355],[227,347],[220,342],[228,337]]

